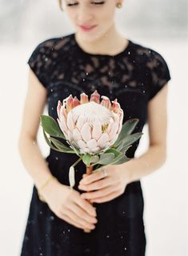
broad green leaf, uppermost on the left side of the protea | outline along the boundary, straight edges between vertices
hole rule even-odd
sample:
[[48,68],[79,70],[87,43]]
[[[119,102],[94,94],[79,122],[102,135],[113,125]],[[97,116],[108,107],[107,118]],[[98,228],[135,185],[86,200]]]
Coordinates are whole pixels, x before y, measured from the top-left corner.
[[60,130],[58,123],[54,120],[54,118],[41,114],[41,125],[47,134],[58,138],[65,138],[65,135]]

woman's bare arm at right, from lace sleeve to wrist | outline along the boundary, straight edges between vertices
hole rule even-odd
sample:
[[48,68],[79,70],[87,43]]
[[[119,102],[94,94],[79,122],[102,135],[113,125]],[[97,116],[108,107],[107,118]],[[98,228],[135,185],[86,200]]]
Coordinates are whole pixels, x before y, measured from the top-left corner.
[[166,162],[166,98],[167,83],[148,103],[149,149],[140,157],[121,165],[129,182],[153,173]]

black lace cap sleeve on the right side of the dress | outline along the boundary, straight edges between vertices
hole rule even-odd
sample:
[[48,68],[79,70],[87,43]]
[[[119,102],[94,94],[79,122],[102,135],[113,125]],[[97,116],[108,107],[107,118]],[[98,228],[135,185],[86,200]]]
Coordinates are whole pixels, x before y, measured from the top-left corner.
[[150,69],[150,85],[148,93],[148,101],[154,98],[158,91],[166,85],[170,77],[170,70],[167,66],[165,59],[161,54],[154,50],[150,50],[150,60],[147,62],[147,66]]

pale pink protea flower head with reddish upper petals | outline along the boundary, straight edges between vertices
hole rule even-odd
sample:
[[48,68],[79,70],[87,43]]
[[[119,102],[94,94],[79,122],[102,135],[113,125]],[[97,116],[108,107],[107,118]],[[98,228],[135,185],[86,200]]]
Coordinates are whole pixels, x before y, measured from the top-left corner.
[[76,147],[80,154],[97,154],[110,148],[122,130],[123,110],[117,99],[110,102],[97,90],[90,95],[82,93],[80,101],[69,97],[58,101],[58,125],[66,140]]

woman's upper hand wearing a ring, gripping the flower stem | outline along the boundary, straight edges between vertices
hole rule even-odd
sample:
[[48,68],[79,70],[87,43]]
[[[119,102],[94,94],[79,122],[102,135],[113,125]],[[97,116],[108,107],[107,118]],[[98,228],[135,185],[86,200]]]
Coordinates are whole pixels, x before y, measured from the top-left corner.
[[[81,194],[82,198],[89,199],[90,202],[107,202],[124,193],[130,182],[125,166],[108,165],[103,168],[106,170],[106,177],[102,168],[90,175],[84,174],[78,186],[80,190],[87,191]],[[96,191],[91,192],[92,190]]]

